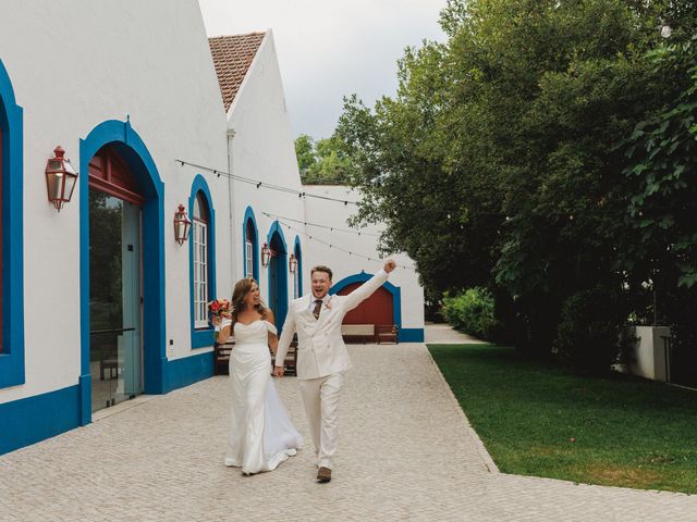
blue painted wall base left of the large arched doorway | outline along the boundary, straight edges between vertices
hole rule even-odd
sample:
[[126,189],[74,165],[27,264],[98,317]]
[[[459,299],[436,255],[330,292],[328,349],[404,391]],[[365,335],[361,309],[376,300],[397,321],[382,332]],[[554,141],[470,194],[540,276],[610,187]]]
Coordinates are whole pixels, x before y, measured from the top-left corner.
[[77,385],[0,405],[0,455],[80,426]]

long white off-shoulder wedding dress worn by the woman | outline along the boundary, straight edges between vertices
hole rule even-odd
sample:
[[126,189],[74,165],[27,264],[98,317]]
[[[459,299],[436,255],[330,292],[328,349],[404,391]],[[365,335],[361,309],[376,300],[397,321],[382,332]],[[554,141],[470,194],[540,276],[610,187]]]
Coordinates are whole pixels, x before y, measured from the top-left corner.
[[246,474],[274,470],[303,444],[271,377],[269,332],[276,334],[276,326],[264,320],[234,325],[225,465],[241,467]]

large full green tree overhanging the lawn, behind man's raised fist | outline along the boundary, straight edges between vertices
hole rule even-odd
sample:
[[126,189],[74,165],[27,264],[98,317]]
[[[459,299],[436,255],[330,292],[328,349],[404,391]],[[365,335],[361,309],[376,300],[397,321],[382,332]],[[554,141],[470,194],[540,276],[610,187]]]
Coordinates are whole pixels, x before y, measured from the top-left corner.
[[[489,288],[528,351],[568,346],[557,340],[557,326],[573,324],[563,310],[612,310],[612,327],[623,323],[617,246],[634,233],[616,146],[669,98],[644,58],[665,12],[451,0],[448,41],[405,51],[394,99],[372,110],[345,100],[335,136],[365,194],[355,221],[387,224],[383,249],[415,259],[427,294]],[[615,349],[596,352],[607,362]]]

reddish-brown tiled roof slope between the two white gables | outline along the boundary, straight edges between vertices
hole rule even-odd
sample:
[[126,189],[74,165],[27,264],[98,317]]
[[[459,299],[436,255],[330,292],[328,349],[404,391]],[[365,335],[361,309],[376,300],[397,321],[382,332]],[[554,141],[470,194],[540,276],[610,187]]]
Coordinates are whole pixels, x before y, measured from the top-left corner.
[[266,33],[208,38],[225,112],[235,99]]

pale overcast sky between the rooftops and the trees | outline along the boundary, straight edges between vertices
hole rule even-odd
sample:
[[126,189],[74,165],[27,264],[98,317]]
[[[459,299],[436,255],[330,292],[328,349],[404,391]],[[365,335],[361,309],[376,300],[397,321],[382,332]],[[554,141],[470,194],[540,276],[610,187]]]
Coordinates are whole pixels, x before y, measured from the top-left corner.
[[407,46],[443,41],[447,0],[199,0],[208,36],[273,29],[294,136],[331,136],[343,97],[396,90]]

